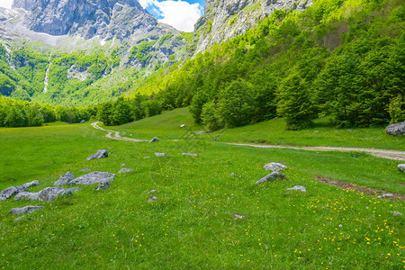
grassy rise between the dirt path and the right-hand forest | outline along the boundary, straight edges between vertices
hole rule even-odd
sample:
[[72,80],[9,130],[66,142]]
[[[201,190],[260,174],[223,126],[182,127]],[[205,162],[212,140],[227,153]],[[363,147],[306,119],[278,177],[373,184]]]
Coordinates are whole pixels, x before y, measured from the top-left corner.
[[[180,128],[182,124],[185,124],[184,128]],[[139,139],[152,139],[154,136],[162,139],[166,139],[167,136],[171,136],[170,139],[180,139],[184,137],[185,130],[209,132],[193,121],[188,108],[163,112],[161,115],[112,127],[112,129],[124,131],[132,134],[133,138]],[[285,130],[284,119],[275,118],[244,127],[211,132],[205,135],[205,139],[214,139],[217,134],[222,134],[221,142],[405,150],[405,138],[389,136],[383,128],[352,130],[334,129],[330,126],[328,118],[315,121],[315,126],[310,129]]]

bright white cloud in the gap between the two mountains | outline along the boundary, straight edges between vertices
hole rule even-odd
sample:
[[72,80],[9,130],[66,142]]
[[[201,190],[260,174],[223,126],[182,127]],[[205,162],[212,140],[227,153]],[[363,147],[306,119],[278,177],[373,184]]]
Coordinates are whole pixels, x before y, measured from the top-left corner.
[[[150,0],[143,0],[151,2]],[[194,23],[202,16],[202,6],[200,4],[189,4],[185,1],[153,1],[157,7],[162,19],[157,20],[159,23],[169,24],[180,31],[193,31]]]

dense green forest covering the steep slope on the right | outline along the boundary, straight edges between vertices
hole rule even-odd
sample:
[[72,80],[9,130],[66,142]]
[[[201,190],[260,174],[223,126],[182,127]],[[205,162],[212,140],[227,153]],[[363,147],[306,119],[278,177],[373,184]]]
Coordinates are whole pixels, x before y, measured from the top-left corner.
[[[168,75],[149,76],[116,105],[154,92],[148,99],[163,110],[189,106],[210,130],[276,116],[290,130],[324,116],[338,128],[405,121],[404,18],[402,1],[325,0],[302,13],[276,11]],[[146,116],[128,121],[139,115]]]

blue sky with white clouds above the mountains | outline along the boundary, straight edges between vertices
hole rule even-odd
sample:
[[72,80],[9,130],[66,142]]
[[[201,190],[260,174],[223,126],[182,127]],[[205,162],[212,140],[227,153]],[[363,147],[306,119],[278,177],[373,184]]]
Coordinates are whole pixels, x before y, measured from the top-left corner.
[[[204,0],[138,0],[159,23],[169,24],[180,31],[193,31],[202,16]],[[11,8],[13,0],[0,0],[0,6]]]

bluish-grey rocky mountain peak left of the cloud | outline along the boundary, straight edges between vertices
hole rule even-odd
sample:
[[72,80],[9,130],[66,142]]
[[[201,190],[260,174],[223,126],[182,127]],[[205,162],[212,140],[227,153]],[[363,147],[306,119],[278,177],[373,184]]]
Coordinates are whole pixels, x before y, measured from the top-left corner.
[[157,26],[137,0],[15,0],[13,7],[27,11],[24,26],[50,35],[124,39]]

